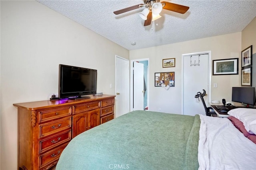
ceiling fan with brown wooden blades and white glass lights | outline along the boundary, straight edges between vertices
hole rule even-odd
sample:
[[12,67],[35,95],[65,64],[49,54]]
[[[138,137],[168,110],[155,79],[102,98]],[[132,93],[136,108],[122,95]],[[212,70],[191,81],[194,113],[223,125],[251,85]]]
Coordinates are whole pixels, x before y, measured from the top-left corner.
[[143,20],[145,20],[144,26],[151,24],[152,16],[153,16],[153,20],[155,20],[154,19],[155,17],[156,19],[160,18],[161,16],[159,15],[159,13],[162,11],[162,9],[178,12],[180,14],[185,14],[189,9],[188,6],[174,4],[171,2],[166,2],[166,1],[160,2],[160,0],[144,0],[144,4],[138,4],[138,5],[130,6],[128,8],[124,8],[122,10],[117,10],[114,12],[114,14],[118,15],[124,12],[142,8],[142,7],[146,7],[142,12],[139,13],[140,17]]

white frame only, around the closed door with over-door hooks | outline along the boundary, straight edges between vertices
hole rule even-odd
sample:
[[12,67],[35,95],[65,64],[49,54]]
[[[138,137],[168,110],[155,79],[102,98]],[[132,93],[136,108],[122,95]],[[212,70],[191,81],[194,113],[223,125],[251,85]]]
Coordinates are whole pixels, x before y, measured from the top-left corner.
[[208,107],[209,102],[212,100],[212,51],[204,51],[204,52],[198,52],[198,53],[188,53],[188,54],[182,54],[182,69],[181,69],[181,113],[184,115],[184,108],[183,108],[183,99],[184,99],[184,57],[188,57],[191,55],[203,55],[208,54],[208,103],[206,103],[206,106]]

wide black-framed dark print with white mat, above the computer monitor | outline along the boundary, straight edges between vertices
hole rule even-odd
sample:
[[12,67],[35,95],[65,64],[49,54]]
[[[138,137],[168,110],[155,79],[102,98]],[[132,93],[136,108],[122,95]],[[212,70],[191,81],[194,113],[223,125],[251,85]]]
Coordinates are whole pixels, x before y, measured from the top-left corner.
[[238,74],[238,58],[212,61],[212,75]]

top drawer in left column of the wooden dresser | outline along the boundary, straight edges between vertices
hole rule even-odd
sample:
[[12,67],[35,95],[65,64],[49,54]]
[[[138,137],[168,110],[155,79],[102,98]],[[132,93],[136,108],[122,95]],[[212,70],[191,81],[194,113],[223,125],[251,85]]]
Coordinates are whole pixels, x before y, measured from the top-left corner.
[[72,107],[61,107],[61,108],[56,108],[56,109],[46,109],[46,110],[40,110],[38,111],[38,115],[39,115],[39,123],[42,123],[44,121],[48,121],[48,120],[52,120],[52,119],[56,119],[56,118],[60,118],[60,117],[64,117],[67,115],[71,115],[72,111],[71,111]]

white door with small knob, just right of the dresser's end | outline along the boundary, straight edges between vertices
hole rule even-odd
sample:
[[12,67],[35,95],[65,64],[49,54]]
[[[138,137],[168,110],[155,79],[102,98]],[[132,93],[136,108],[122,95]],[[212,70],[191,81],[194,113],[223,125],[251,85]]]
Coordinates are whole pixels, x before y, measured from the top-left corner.
[[129,112],[129,85],[129,60],[116,55],[116,117]]

